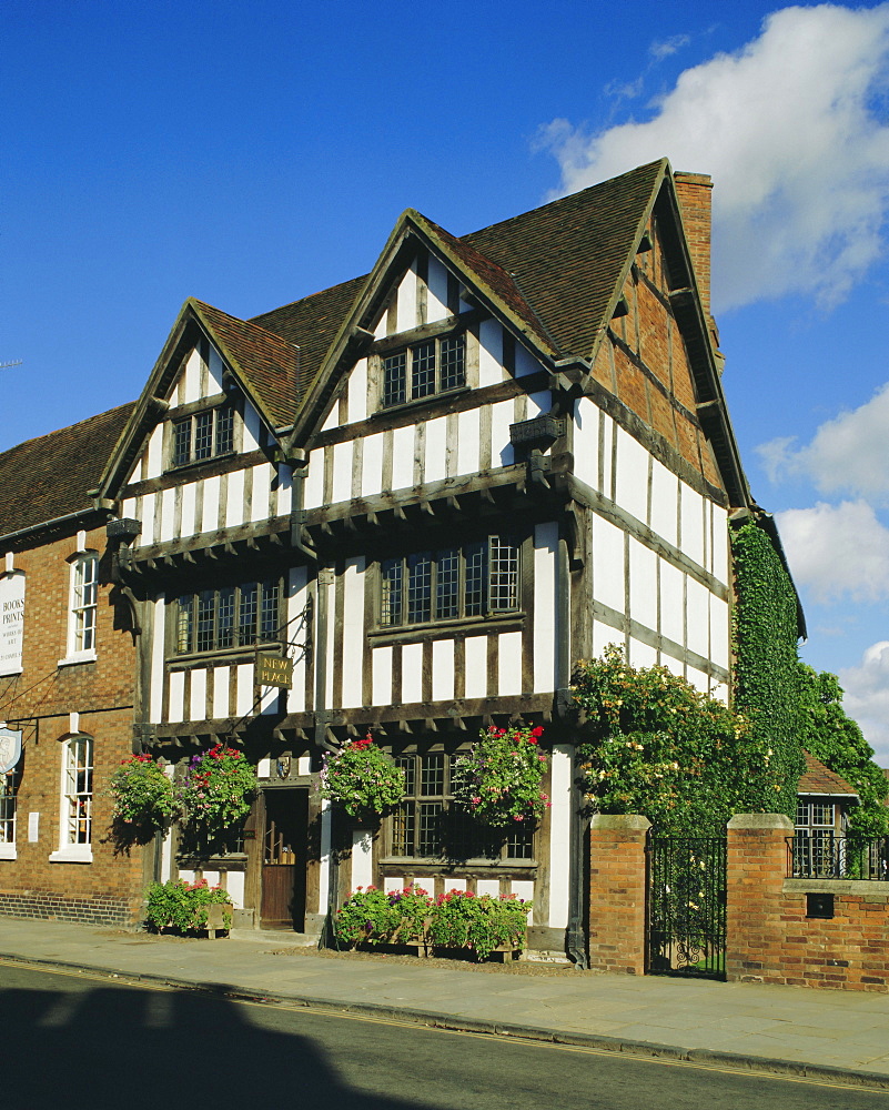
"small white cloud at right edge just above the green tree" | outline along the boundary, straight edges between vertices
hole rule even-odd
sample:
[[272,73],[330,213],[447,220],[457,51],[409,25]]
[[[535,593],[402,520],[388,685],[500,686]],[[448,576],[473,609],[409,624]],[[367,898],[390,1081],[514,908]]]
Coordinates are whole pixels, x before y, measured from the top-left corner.
[[889,597],[889,529],[862,501],[776,514],[794,581],[816,601]]

